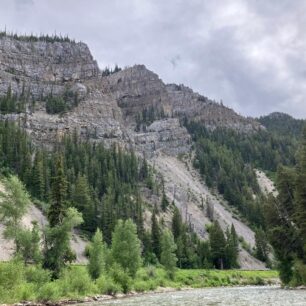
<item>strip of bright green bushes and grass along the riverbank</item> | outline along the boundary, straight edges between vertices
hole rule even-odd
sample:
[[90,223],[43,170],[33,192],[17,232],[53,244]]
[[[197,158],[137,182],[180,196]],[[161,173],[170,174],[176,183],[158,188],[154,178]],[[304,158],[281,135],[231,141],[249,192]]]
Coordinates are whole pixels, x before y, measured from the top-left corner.
[[276,271],[177,269],[170,277],[163,268],[153,266],[139,269],[133,279],[117,267],[96,280],[85,266],[69,266],[52,280],[38,266],[16,260],[0,264],[0,302],[7,304],[66,304],[154,291],[278,283]]

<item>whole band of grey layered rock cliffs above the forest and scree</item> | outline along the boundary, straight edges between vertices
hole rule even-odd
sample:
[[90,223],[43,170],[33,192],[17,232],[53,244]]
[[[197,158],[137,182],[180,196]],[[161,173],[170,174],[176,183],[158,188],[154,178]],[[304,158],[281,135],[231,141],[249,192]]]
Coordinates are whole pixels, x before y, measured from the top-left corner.
[[[37,101],[34,112],[20,116],[33,138],[44,143],[76,129],[86,137],[120,142],[149,155],[152,151],[177,155],[188,152],[191,143],[179,123],[182,118],[210,128],[259,128],[255,121],[183,85],[164,84],[143,65],[102,77],[84,43],[0,38],[0,95],[9,88]],[[41,100],[67,90],[78,93],[79,105],[60,116],[47,114]]]

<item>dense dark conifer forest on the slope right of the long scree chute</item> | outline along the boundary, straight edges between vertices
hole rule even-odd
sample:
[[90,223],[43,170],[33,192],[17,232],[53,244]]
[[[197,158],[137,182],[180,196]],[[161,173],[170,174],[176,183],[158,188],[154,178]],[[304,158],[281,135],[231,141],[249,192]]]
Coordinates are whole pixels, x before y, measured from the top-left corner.
[[185,125],[196,142],[194,164],[208,186],[217,188],[251,224],[262,226],[260,190],[253,168],[276,171],[280,163],[294,164],[296,138],[266,130],[239,133],[224,128],[211,131],[194,122]]

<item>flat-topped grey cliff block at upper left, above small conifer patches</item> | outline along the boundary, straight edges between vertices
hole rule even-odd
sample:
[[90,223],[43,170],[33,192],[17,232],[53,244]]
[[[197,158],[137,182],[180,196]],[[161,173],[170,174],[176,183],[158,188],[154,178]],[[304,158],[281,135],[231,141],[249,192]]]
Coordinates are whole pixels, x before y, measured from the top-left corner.
[[9,86],[20,94],[25,86],[38,99],[51,91],[62,93],[69,83],[98,73],[97,63],[84,43],[0,39],[0,94]]

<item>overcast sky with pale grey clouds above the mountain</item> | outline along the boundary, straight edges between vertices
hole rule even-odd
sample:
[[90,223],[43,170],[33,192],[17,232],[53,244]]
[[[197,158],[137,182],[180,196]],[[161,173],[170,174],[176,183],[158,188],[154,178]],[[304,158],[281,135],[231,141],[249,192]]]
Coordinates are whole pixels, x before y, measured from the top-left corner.
[[61,33],[245,116],[306,118],[306,0],[0,0],[0,29]]

